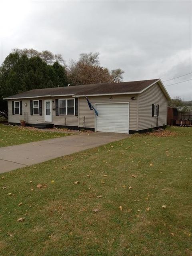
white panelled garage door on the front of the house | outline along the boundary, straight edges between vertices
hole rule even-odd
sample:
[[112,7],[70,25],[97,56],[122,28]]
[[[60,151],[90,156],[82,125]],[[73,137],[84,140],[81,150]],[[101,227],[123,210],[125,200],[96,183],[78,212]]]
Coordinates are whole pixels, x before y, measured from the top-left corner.
[[98,132],[129,133],[128,103],[98,103],[95,130]]

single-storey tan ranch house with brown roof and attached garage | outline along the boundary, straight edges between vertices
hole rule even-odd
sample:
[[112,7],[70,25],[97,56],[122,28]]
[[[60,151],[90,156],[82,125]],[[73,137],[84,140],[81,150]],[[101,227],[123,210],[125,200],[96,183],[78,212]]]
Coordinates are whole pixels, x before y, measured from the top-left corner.
[[[90,110],[85,96],[92,106]],[[44,88],[4,98],[8,122],[132,133],[167,124],[170,96],[160,79]]]

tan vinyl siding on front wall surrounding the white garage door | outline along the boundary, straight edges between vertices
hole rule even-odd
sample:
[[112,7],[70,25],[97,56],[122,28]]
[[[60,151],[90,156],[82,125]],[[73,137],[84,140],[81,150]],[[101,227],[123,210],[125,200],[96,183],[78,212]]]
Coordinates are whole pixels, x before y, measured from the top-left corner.
[[[136,100],[131,100],[131,97],[135,97]],[[90,96],[88,97],[92,105],[95,103],[115,103],[115,102],[129,102],[129,130],[137,130],[137,95],[112,95],[110,96]],[[86,98],[79,98],[79,127],[84,127],[84,116],[85,124],[87,128],[94,128],[94,110],[90,110],[87,104]]]

